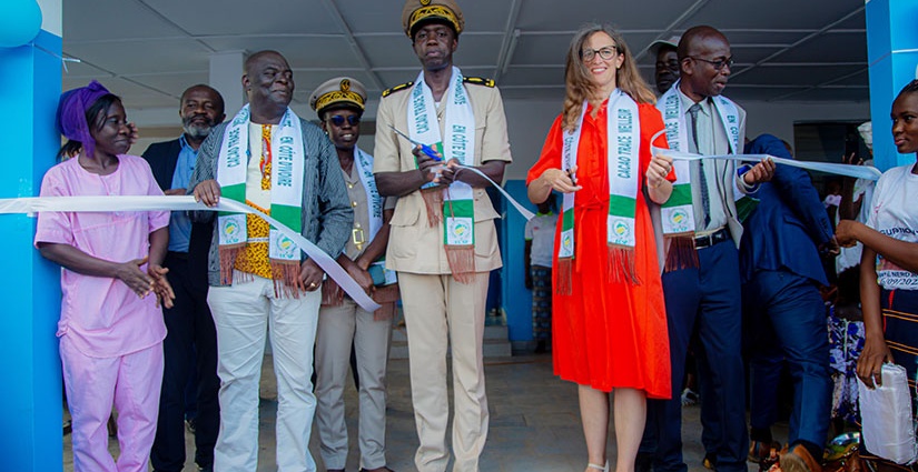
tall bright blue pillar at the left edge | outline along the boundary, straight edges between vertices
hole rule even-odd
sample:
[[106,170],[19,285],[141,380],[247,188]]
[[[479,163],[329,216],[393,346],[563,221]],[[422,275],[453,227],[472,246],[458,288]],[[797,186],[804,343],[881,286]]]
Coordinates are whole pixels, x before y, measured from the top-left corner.
[[[34,7],[29,1],[4,0],[0,14],[6,19],[0,21]],[[4,37],[11,31],[9,23],[0,28],[4,41],[0,46],[0,103],[6,116],[0,133],[0,198],[38,195],[41,178],[60,148],[53,122],[61,89],[61,0],[42,0],[41,9],[45,22],[39,19],[36,29],[40,23],[42,30],[29,43],[10,47]],[[33,249],[34,222],[24,214],[0,215],[0,461],[9,471],[55,471],[63,463],[62,388],[55,338],[60,271]]]

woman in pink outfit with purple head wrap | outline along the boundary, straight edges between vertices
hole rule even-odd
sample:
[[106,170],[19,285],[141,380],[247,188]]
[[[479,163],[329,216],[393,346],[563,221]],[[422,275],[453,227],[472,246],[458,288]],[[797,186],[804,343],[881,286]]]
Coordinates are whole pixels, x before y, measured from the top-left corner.
[[[41,197],[161,195],[130,147],[121,100],[100,83],[61,96],[68,138],[41,182]],[[42,212],[36,247],[60,264],[60,359],[72,418],[76,471],[147,471],[156,432],[166,327],[159,302],[172,294],[161,267],[168,211]],[[106,423],[118,411],[116,462]]]

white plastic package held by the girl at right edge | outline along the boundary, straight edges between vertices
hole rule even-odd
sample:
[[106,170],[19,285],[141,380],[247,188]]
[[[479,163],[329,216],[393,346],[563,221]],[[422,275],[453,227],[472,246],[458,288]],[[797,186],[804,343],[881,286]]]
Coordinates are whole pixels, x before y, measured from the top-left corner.
[[918,455],[911,418],[911,398],[906,369],[884,364],[882,386],[868,389],[858,379],[861,438],[867,450],[897,464],[909,464]]

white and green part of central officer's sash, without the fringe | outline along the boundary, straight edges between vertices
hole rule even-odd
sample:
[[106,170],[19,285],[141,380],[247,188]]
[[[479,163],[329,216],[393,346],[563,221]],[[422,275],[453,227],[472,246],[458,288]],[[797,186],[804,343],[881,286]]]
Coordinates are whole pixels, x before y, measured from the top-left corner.
[[[453,68],[450,89],[446,92],[444,141],[440,134],[436,108],[431,88],[424,82],[422,71],[412,90],[408,113],[408,132],[419,142],[440,143],[445,161],[455,159],[460,164],[475,164],[475,114],[468,92],[462,81],[462,72]],[[453,182],[444,191],[444,244],[473,245],[475,243],[474,194],[465,182]]]

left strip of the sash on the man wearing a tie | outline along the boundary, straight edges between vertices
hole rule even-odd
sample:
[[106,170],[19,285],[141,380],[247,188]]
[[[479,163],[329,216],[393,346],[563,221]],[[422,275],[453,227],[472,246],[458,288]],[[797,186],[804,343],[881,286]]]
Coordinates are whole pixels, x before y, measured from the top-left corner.
[[[667,142],[669,142],[670,149],[688,151],[688,133],[684,132],[685,110],[682,108],[682,100],[679,99],[678,88],[679,82],[670,87],[670,90],[668,90],[663,97],[660,97],[660,100],[657,102],[657,108],[663,114]],[[694,211],[692,210],[692,181],[689,162],[673,160],[672,168],[673,171],[675,171],[675,182],[672,184],[672,194],[660,208],[663,234],[677,235],[694,233],[695,222]]]

